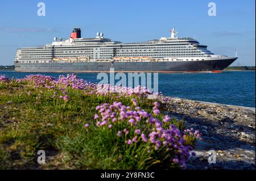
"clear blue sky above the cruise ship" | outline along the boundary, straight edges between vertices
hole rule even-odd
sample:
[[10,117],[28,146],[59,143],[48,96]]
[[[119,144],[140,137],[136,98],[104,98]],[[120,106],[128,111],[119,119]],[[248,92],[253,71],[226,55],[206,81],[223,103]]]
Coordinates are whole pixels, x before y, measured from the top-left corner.
[[[37,15],[39,2],[46,16]],[[209,2],[216,16],[208,15]],[[0,65],[13,64],[16,48],[69,37],[74,27],[82,37],[104,32],[126,43],[169,37],[174,25],[180,37],[195,37],[215,54],[234,56],[237,48],[233,65],[255,65],[255,0],[0,0],[0,16]]]

